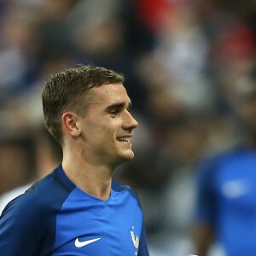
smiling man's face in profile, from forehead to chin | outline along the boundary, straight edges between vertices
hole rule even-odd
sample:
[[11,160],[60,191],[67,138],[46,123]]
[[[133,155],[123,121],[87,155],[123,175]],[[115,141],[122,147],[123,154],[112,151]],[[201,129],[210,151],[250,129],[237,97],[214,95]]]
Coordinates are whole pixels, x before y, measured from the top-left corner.
[[131,132],[138,124],[129,112],[131,100],[125,87],[103,84],[89,94],[85,116],[79,117],[84,157],[113,166],[131,160]]

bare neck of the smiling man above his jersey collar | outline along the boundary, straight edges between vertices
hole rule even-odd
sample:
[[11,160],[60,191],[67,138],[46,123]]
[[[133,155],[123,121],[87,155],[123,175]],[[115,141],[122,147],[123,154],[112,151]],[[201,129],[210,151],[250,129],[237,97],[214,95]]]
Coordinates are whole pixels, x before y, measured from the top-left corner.
[[74,158],[63,152],[62,167],[67,177],[87,194],[107,200],[110,195],[113,169]]

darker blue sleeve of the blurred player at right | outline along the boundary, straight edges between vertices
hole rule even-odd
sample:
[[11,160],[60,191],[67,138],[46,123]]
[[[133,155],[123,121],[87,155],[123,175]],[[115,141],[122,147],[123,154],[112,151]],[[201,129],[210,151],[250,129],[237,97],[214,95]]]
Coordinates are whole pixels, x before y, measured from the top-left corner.
[[214,175],[218,159],[202,160],[196,175],[195,222],[212,224],[216,214]]

